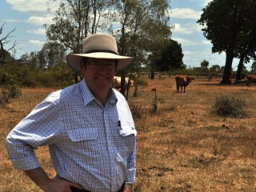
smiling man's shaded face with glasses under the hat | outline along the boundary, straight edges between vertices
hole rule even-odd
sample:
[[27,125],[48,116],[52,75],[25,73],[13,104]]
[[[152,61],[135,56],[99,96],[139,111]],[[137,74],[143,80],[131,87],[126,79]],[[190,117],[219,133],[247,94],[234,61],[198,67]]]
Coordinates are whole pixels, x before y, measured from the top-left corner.
[[115,60],[88,58],[86,64],[81,63],[81,70],[90,89],[109,89],[116,72]]

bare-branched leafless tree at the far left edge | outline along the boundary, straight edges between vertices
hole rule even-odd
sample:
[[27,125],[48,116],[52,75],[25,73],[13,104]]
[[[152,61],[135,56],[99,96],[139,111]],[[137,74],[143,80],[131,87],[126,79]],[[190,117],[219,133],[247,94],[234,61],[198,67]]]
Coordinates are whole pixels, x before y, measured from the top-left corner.
[[10,46],[9,49],[5,50],[4,47],[6,46],[7,43],[10,42],[10,38],[12,38],[13,36],[11,36],[10,34],[12,34],[14,32],[14,30],[10,30],[9,33],[7,33],[6,35],[4,35],[3,37],[1,37],[1,35],[3,34],[3,30],[4,30],[4,25],[6,22],[4,22],[2,24],[2,26],[0,27],[0,66],[2,64],[5,63],[9,63],[9,62],[14,62],[14,58],[11,57],[9,51],[11,50],[15,50],[15,46],[16,46],[16,41],[14,41],[13,45]]

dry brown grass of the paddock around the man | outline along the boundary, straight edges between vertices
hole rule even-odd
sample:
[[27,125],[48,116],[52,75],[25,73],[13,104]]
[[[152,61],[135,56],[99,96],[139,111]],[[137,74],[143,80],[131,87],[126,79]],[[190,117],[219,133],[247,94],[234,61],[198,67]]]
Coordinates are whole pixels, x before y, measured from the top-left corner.
[[[130,108],[138,130],[137,180],[134,191],[256,191],[256,86],[219,86],[220,79],[192,82],[177,94],[174,78],[146,79],[138,97],[130,90]],[[158,110],[152,112],[157,90]],[[40,191],[7,158],[9,131],[54,89],[22,90],[22,96],[0,109],[0,191]],[[246,118],[222,118],[212,113],[220,95],[242,98]],[[43,153],[42,153],[43,152]],[[51,176],[46,147],[37,152]]]

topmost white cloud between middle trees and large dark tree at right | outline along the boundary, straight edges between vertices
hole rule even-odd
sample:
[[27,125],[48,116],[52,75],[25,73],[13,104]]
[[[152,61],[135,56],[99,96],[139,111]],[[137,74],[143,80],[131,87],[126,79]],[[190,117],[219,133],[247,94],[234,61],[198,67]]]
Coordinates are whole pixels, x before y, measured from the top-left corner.
[[174,8],[171,10],[170,17],[182,19],[199,19],[202,11],[196,11],[190,8]]

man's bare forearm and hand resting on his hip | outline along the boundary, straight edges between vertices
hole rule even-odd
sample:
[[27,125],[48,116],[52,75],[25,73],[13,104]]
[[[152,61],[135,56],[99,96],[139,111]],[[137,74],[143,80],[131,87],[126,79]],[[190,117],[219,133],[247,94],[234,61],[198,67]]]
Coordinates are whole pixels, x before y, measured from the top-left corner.
[[49,178],[41,167],[38,167],[34,170],[25,170],[25,173],[37,186],[39,186],[45,192],[71,192],[70,186],[74,186],[82,190],[82,186],[74,182],[68,182],[58,177]]

